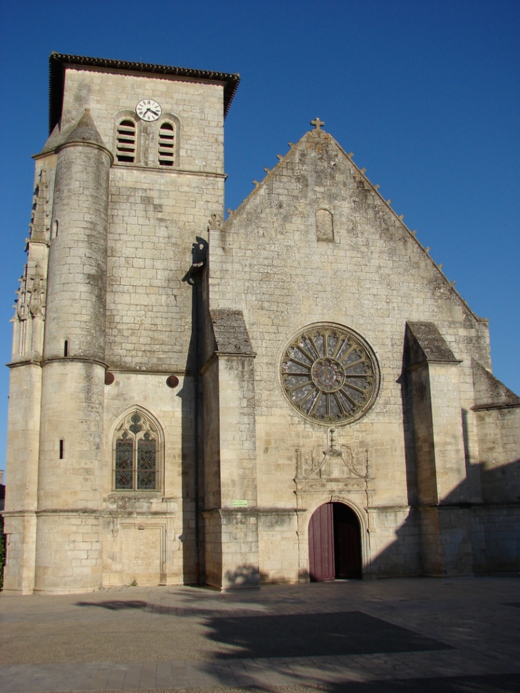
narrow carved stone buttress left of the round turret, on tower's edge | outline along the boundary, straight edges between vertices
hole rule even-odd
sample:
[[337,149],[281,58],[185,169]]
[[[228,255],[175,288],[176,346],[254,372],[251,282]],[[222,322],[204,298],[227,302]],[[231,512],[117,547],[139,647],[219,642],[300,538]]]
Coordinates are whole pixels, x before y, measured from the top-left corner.
[[40,438],[41,366],[46,311],[48,240],[56,155],[36,162],[27,264],[13,317],[4,512],[9,561],[4,590],[32,593],[36,561],[36,509]]

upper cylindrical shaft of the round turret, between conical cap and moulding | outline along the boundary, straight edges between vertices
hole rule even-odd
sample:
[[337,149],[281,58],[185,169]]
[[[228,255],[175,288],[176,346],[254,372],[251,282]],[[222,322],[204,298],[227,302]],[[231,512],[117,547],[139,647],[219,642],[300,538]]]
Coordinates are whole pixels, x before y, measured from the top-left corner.
[[46,359],[64,355],[105,358],[110,163],[108,152],[90,144],[67,144],[58,154],[49,250]]

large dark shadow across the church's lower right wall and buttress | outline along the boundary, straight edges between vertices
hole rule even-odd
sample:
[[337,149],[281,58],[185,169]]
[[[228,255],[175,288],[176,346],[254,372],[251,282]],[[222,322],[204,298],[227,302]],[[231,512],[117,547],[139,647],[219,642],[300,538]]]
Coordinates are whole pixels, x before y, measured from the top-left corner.
[[[373,558],[368,572],[378,577],[519,575],[520,459],[501,467],[471,467],[469,478],[439,504],[411,507],[397,538]],[[459,501],[474,496],[477,480],[481,499]]]

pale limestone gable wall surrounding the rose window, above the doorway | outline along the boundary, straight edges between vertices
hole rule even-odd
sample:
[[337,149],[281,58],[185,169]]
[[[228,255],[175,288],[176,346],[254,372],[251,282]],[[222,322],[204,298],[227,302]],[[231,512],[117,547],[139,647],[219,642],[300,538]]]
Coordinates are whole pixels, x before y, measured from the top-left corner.
[[[331,234],[322,240],[318,233],[316,214],[322,209],[333,217],[333,240]],[[371,509],[400,508],[406,523],[410,465],[407,469],[400,380],[406,322],[437,325],[461,362],[452,387],[459,393],[459,407],[467,410],[474,402],[469,359],[480,355],[489,360],[489,353],[484,354],[484,323],[460,300],[352,160],[322,131],[305,135],[223,228],[210,231],[209,256],[210,306],[243,311],[257,353],[259,507],[296,509],[296,449],[311,454],[326,440],[324,427],[293,410],[279,375],[291,335],[305,325],[326,321],[357,331],[375,352],[381,372],[378,398],[365,417],[339,427],[338,441],[354,457],[368,457],[374,478]],[[440,382],[445,375],[439,373]],[[444,420],[441,410],[439,416]],[[457,488],[464,475],[464,455],[477,456],[472,417],[467,423],[467,450],[460,411],[454,425],[456,439],[451,434],[446,439],[449,459],[442,472],[441,494]],[[329,499],[323,493],[322,502]],[[413,538],[406,541],[409,560],[403,570],[407,573],[418,569],[417,526],[418,522]],[[385,556],[394,546],[391,533],[376,550]],[[397,543],[394,548],[397,551]],[[394,566],[391,570],[402,566],[401,559],[385,560]],[[271,570],[280,573],[274,566]]]

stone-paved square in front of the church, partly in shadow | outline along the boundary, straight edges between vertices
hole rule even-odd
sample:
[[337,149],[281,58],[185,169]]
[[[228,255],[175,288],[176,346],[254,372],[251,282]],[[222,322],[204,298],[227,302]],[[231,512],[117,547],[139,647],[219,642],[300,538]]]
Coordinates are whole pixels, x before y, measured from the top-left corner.
[[518,578],[1,595],[2,693],[520,692]]

